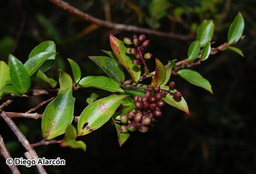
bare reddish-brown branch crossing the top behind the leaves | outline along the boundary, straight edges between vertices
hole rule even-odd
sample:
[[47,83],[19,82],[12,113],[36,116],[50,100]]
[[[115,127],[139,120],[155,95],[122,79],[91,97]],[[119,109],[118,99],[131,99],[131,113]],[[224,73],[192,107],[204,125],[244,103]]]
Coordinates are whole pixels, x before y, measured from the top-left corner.
[[138,26],[133,25],[126,25],[126,24],[116,24],[114,22],[108,22],[102,19],[98,19],[96,17],[92,17],[91,15],[88,15],[87,13],[82,12],[81,10],[78,10],[77,8],[70,6],[70,4],[61,1],[61,0],[49,0],[55,5],[59,6],[63,10],[68,11],[69,13],[76,15],[77,17],[80,17],[81,19],[84,19],[85,21],[91,22],[93,24],[97,24],[98,26],[104,26],[110,29],[115,29],[118,31],[128,31],[128,32],[137,32],[137,33],[144,33],[149,35],[158,35],[165,38],[174,38],[178,40],[192,40],[195,35],[194,33],[190,33],[188,35],[179,35],[176,33],[167,33],[163,31],[156,31],[153,29],[146,29]]

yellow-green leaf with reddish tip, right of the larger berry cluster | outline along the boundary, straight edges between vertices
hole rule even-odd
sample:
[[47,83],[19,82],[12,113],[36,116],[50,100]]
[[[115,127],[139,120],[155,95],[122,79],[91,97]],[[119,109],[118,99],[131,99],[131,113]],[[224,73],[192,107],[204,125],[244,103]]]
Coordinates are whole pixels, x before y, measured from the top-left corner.
[[[169,90],[169,86],[161,86],[161,88]],[[172,93],[174,93],[175,91],[176,90],[172,90]],[[170,95],[170,93],[167,93],[167,95],[163,97],[163,100],[167,104],[170,104],[171,106],[176,107],[176,109],[184,111],[189,115],[188,104],[186,103],[186,100],[183,97],[181,97],[181,100],[176,100],[172,95]]]

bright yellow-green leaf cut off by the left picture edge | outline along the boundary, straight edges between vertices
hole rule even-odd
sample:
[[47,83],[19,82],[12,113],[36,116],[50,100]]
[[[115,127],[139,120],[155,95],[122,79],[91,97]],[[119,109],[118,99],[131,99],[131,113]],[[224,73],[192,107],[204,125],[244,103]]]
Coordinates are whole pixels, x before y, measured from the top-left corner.
[[[0,61],[0,89],[10,81],[9,67],[4,61]],[[0,92],[0,99],[4,93]]]

